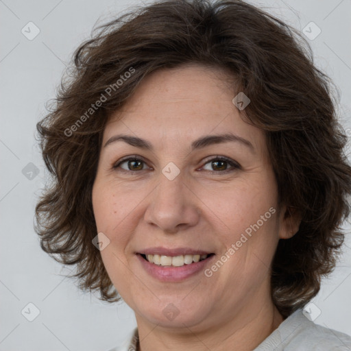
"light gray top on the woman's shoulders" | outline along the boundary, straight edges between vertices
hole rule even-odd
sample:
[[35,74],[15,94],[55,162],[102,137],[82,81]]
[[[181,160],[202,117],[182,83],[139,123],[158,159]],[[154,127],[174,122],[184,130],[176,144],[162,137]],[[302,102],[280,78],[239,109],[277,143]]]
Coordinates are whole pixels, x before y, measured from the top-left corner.
[[[137,343],[135,328],[121,346],[109,351],[134,351]],[[311,322],[299,309],[253,351],[351,351],[351,337]]]

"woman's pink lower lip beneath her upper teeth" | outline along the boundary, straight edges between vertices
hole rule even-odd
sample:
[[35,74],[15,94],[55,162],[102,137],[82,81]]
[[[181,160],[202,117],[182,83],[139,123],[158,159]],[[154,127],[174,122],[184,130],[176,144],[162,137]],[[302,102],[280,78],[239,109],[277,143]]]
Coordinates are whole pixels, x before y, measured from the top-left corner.
[[159,266],[145,260],[141,254],[136,254],[138,260],[143,265],[147,273],[162,282],[179,282],[191,276],[195,276],[199,271],[204,270],[204,267],[212,260],[215,255],[209,256],[202,261],[191,263],[180,267]]

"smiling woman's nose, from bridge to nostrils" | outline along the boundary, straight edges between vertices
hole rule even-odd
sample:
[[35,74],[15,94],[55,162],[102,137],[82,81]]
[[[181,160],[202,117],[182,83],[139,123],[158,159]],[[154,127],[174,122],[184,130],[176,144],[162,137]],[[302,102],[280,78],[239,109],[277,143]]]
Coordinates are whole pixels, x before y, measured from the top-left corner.
[[160,173],[160,182],[148,199],[144,219],[163,232],[174,234],[199,221],[199,199],[181,173],[173,180]]

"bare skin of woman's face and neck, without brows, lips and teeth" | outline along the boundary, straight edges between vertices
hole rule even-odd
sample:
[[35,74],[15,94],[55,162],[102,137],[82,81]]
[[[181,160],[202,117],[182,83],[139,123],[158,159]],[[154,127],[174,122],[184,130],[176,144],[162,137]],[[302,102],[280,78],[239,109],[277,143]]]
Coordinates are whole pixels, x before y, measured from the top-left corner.
[[[269,269],[279,239],[297,232],[299,221],[278,206],[265,135],[244,121],[227,83],[224,71],[196,64],[156,71],[104,130],[102,145],[116,134],[154,145],[153,152],[124,141],[101,147],[93,186],[97,230],[110,239],[101,257],[134,310],[143,351],[253,350],[283,320],[271,301]],[[226,142],[191,152],[196,138],[228,132],[254,151]],[[135,155],[145,160],[138,171],[128,161],[113,168]],[[213,164],[217,156],[240,167]],[[174,180],[162,173],[169,162],[180,170]],[[213,276],[160,282],[136,257],[146,247],[186,246],[215,253],[215,262],[271,207],[276,212]],[[179,311],[173,320],[162,313],[170,303]]]

